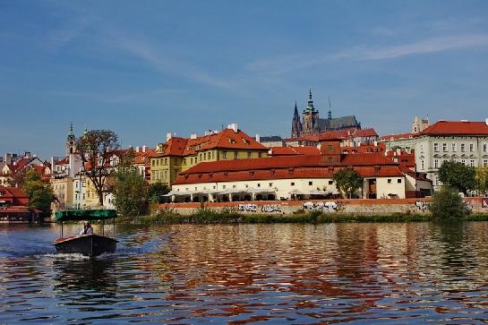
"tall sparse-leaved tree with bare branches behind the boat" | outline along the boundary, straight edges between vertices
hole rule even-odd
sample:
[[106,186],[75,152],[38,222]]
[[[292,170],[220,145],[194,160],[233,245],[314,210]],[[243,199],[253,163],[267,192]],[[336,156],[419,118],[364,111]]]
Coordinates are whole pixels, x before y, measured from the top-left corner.
[[117,165],[116,160],[111,161],[111,158],[119,148],[118,137],[110,130],[91,130],[76,140],[83,172],[95,187],[100,206],[103,206],[103,194],[107,192],[107,176]]

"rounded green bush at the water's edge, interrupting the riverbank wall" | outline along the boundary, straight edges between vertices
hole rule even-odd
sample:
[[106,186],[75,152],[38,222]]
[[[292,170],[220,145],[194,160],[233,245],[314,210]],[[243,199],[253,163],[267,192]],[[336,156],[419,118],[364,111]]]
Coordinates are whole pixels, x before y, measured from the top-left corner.
[[433,194],[429,210],[432,217],[439,220],[462,218],[470,213],[467,203],[459,196],[458,189],[450,186],[442,186],[441,191]]

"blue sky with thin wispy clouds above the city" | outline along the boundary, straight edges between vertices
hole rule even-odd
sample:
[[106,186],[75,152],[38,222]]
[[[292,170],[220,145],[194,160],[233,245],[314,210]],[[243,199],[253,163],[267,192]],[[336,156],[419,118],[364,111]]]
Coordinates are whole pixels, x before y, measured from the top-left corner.
[[64,153],[70,122],[154,146],[295,100],[378,133],[488,117],[486,1],[2,1],[0,152]]

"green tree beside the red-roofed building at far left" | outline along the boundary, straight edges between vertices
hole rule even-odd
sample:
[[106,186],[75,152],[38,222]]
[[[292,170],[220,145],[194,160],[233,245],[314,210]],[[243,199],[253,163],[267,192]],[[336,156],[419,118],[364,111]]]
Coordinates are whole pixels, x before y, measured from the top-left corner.
[[22,190],[29,196],[30,208],[42,210],[43,216],[51,214],[51,203],[56,200],[50,184],[44,184],[41,176],[34,169],[25,173]]

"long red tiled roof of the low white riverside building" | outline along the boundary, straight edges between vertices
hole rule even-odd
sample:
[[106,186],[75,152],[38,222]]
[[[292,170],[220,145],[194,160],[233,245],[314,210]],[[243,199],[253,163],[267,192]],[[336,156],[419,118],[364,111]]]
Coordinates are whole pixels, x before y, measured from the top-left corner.
[[354,167],[363,176],[401,176],[397,164],[378,153],[344,155],[340,163],[322,156],[291,156],[204,162],[176,177],[175,184],[284,178],[329,178],[338,169]]

